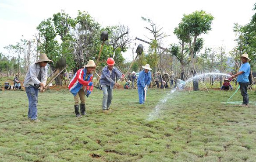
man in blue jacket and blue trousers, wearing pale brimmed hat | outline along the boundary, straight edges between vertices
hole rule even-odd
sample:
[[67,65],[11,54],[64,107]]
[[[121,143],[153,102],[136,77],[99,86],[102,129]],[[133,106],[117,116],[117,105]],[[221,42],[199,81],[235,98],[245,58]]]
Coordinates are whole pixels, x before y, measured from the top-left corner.
[[149,64],[142,66],[142,68],[143,70],[139,72],[139,77],[137,81],[138,93],[139,93],[139,104],[144,104],[145,102],[145,93],[151,81],[151,72],[149,70],[152,70],[150,69]]

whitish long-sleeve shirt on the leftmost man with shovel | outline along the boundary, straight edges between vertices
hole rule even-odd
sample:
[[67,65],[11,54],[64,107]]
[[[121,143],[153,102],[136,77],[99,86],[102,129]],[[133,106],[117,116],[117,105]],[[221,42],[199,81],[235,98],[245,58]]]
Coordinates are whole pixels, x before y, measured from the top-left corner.
[[45,67],[42,68],[42,77],[41,77],[41,80],[38,80],[37,76],[38,76],[39,71],[40,71],[39,63],[33,63],[32,65],[30,65],[29,69],[28,69],[28,72],[27,72],[27,75],[25,77],[23,86],[25,86],[25,87],[34,86],[34,84],[39,84],[39,83],[46,84],[47,69],[48,69],[48,66],[45,66]]

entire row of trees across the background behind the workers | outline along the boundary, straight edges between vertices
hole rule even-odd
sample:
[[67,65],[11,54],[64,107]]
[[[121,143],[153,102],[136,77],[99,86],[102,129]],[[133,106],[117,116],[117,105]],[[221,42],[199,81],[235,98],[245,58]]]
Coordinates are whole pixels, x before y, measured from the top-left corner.
[[[253,17],[252,22],[255,21]],[[138,38],[148,43],[149,48],[136,60],[132,67],[133,71],[138,72],[142,65],[149,63],[153,67],[153,72],[174,71],[178,78],[185,79],[184,76],[188,76],[194,68],[198,72],[212,72],[214,69],[225,72],[230,69],[223,46],[218,49],[206,48],[202,54],[199,54],[204,42],[199,36],[211,30],[213,21],[211,14],[200,10],[184,15],[178,27],[173,31],[179,42],[171,43],[167,48],[162,47],[162,39],[169,35],[164,34],[161,31],[162,28],[157,28],[157,25],[150,19],[142,17],[142,20],[149,24],[149,27],[145,28],[153,34],[153,37],[149,38],[150,41]],[[238,46],[230,52],[235,62],[234,67],[231,68],[235,71],[240,65],[239,56],[243,52],[249,53],[252,59],[255,57],[253,54],[254,37],[252,33],[248,34],[248,31],[253,30],[252,22],[244,27],[235,24],[234,31],[238,37]],[[53,14],[53,17],[43,20],[37,26],[37,30],[38,33],[35,34],[34,40],[21,39],[17,45],[6,47],[8,56],[2,55],[0,59],[7,60],[9,63],[0,63],[1,72],[7,72],[7,76],[15,71],[25,73],[28,65],[36,61],[39,52],[45,52],[49,59],[53,60],[50,66],[52,70],[55,69],[55,63],[60,58],[65,58],[69,65],[68,70],[76,71],[89,59],[96,60],[102,43],[99,38],[102,31],[108,31],[109,40],[103,46],[99,67],[97,67],[98,72],[105,65],[108,57],[113,57],[116,65],[123,72],[126,72],[130,65],[130,62],[124,61],[121,53],[126,52],[131,38],[128,27],[121,24],[102,28],[86,12],[78,11],[78,16],[72,18],[62,10],[60,13]],[[11,52],[16,57],[11,57]]]

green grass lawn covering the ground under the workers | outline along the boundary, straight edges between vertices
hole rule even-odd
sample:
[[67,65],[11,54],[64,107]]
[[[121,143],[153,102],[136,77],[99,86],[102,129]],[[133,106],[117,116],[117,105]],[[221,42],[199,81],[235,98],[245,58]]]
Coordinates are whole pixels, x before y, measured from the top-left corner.
[[144,105],[135,89],[113,93],[103,114],[94,90],[81,118],[68,90],[39,93],[41,122],[32,123],[25,91],[0,91],[0,162],[256,161],[256,105],[224,104],[234,91],[149,89]]

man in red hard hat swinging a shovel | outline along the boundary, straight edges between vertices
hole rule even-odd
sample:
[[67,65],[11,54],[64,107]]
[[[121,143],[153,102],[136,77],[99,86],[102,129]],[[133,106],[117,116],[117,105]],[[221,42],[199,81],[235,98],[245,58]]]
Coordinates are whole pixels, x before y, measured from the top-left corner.
[[114,80],[116,76],[121,79],[122,81],[124,80],[124,77],[122,76],[121,72],[114,67],[115,61],[113,58],[108,58],[107,59],[107,66],[105,66],[102,69],[102,74],[100,78],[100,85],[103,91],[103,100],[102,100],[102,110],[103,113],[107,113],[107,110],[110,107],[110,103],[113,98],[113,87],[114,85],[119,85],[116,83]]

